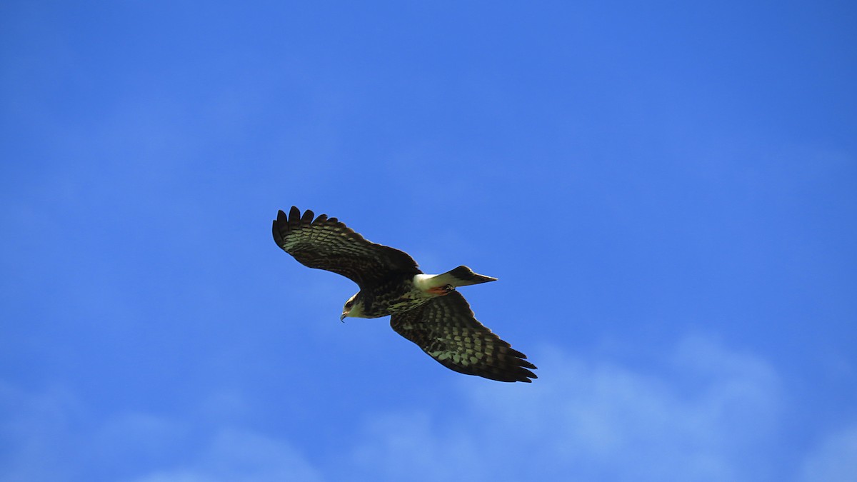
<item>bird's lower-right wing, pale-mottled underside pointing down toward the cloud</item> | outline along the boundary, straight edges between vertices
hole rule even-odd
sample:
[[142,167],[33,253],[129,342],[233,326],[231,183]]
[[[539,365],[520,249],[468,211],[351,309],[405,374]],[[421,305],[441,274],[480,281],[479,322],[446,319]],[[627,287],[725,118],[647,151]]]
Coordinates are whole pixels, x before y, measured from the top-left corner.
[[528,370],[536,370],[536,365],[476,321],[458,292],[393,315],[390,326],[451,370],[500,382],[529,383],[538,378]]

